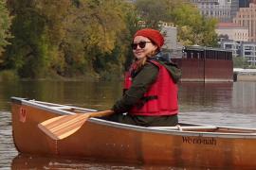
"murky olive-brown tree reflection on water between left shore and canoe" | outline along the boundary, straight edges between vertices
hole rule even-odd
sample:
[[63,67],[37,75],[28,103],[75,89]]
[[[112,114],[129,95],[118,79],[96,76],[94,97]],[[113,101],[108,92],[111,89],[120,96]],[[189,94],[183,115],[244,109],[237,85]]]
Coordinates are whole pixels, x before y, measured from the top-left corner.
[[121,95],[122,82],[18,81],[0,84],[0,107],[9,110],[10,96],[105,110]]

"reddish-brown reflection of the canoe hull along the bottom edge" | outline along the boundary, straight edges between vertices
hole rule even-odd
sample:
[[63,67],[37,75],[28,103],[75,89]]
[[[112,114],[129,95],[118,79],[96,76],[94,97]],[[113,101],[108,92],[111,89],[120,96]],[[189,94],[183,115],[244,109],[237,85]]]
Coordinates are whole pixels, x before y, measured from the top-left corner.
[[[205,170],[207,167],[185,167],[185,166],[165,166],[160,164],[122,164],[119,162],[100,162],[82,159],[69,159],[46,157],[38,155],[19,154],[11,162],[11,169],[117,169],[117,170]],[[233,168],[232,168],[233,169]],[[218,170],[214,168],[214,170]],[[241,170],[241,169],[240,169]]]

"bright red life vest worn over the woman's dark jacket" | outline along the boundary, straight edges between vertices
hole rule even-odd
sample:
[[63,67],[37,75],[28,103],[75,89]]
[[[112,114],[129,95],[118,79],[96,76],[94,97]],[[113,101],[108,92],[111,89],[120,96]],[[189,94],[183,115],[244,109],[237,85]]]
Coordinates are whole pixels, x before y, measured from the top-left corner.
[[[159,68],[155,83],[147,93],[128,112],[135,115],[173,115],[178,112],[177,86],[168,70],[159,62],[151,60]],[[126,74],[124,88],[129,89],[132,85],[131,74]]]

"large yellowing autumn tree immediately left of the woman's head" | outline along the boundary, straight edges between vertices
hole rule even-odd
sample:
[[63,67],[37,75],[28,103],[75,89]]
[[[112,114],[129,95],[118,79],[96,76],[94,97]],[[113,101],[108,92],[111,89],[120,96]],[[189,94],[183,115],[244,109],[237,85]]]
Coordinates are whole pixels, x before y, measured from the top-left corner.
[[126,22],[132,7],[121,0],[76,2],[66,17],[68,31],[62,46],[70,63],[67,73],[117,72],[124,60],[121,54],[128,43],[126,37],[130,35]]

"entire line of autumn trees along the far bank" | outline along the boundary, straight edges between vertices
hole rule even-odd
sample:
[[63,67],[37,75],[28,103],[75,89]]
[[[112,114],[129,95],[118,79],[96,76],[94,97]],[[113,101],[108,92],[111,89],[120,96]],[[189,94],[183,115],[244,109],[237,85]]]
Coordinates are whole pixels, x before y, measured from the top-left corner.
[[0,0],[0,70],[20,77],[120,76],[139,25],[173,23],[184,45],[216,45],[216,21],[180,0]]

